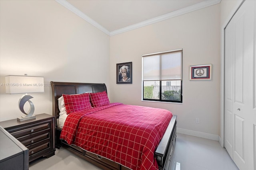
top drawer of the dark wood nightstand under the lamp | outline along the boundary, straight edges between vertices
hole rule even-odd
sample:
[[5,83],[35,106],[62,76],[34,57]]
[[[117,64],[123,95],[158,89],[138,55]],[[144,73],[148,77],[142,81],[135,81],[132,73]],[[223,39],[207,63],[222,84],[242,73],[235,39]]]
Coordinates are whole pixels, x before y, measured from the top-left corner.
[[11,135],[14,136],[15,138],[19,138],[25,135],[29,135],[38,131],[42,131],[44,129],[49,129],[50,128],[50,123],[45,123],[42,125],[38,125],[38,126],[34,126],[34,127],[30,127],[27,129],[23,129],[20,131],[16,131],[16,132],[12,132]]

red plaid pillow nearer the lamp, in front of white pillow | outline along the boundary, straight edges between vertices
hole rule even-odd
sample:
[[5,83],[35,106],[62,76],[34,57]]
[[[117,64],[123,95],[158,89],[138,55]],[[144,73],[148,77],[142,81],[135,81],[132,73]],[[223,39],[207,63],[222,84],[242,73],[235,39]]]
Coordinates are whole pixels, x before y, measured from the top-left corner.
[[89,93],[73,95],[62,94],[62,96],[64,99],[64,105],[66,108],[67,115],[74,111],[92,108]]

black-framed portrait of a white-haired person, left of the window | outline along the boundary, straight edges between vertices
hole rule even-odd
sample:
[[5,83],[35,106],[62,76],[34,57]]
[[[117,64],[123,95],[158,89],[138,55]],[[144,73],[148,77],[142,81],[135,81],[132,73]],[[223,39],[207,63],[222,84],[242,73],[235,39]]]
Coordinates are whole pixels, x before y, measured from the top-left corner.
[[132,84],[132,62],[116,64],[116,84]]

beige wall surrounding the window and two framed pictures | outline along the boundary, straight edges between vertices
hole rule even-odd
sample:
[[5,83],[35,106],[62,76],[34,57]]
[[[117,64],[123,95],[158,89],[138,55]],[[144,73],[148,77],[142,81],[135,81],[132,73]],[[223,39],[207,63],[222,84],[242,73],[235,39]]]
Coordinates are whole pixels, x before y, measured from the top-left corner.
[[[176,49],[183,49],[183,104],[142,102],[142,55]],[[116,84],[116,63],[124,62],[132,62],[132,84]],[[212,64],[212,80],[189,80],[197,64]],[[220,4],[111,36],[110,88],[112,102],[168,109],[178,128],[219,135]]]

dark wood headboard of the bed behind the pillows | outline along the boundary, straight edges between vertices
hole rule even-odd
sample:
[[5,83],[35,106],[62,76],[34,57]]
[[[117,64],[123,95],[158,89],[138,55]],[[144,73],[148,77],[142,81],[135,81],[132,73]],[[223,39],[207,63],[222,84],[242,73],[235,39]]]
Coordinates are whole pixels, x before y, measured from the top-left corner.
[[82,94],[82,93],[96,93],[107,92],[106,84],[100,83],[72,83],[72,82],[53,82],[52,86],[52,115],[57,120],[60,116],[58,107],[58,98],[62,94]]

